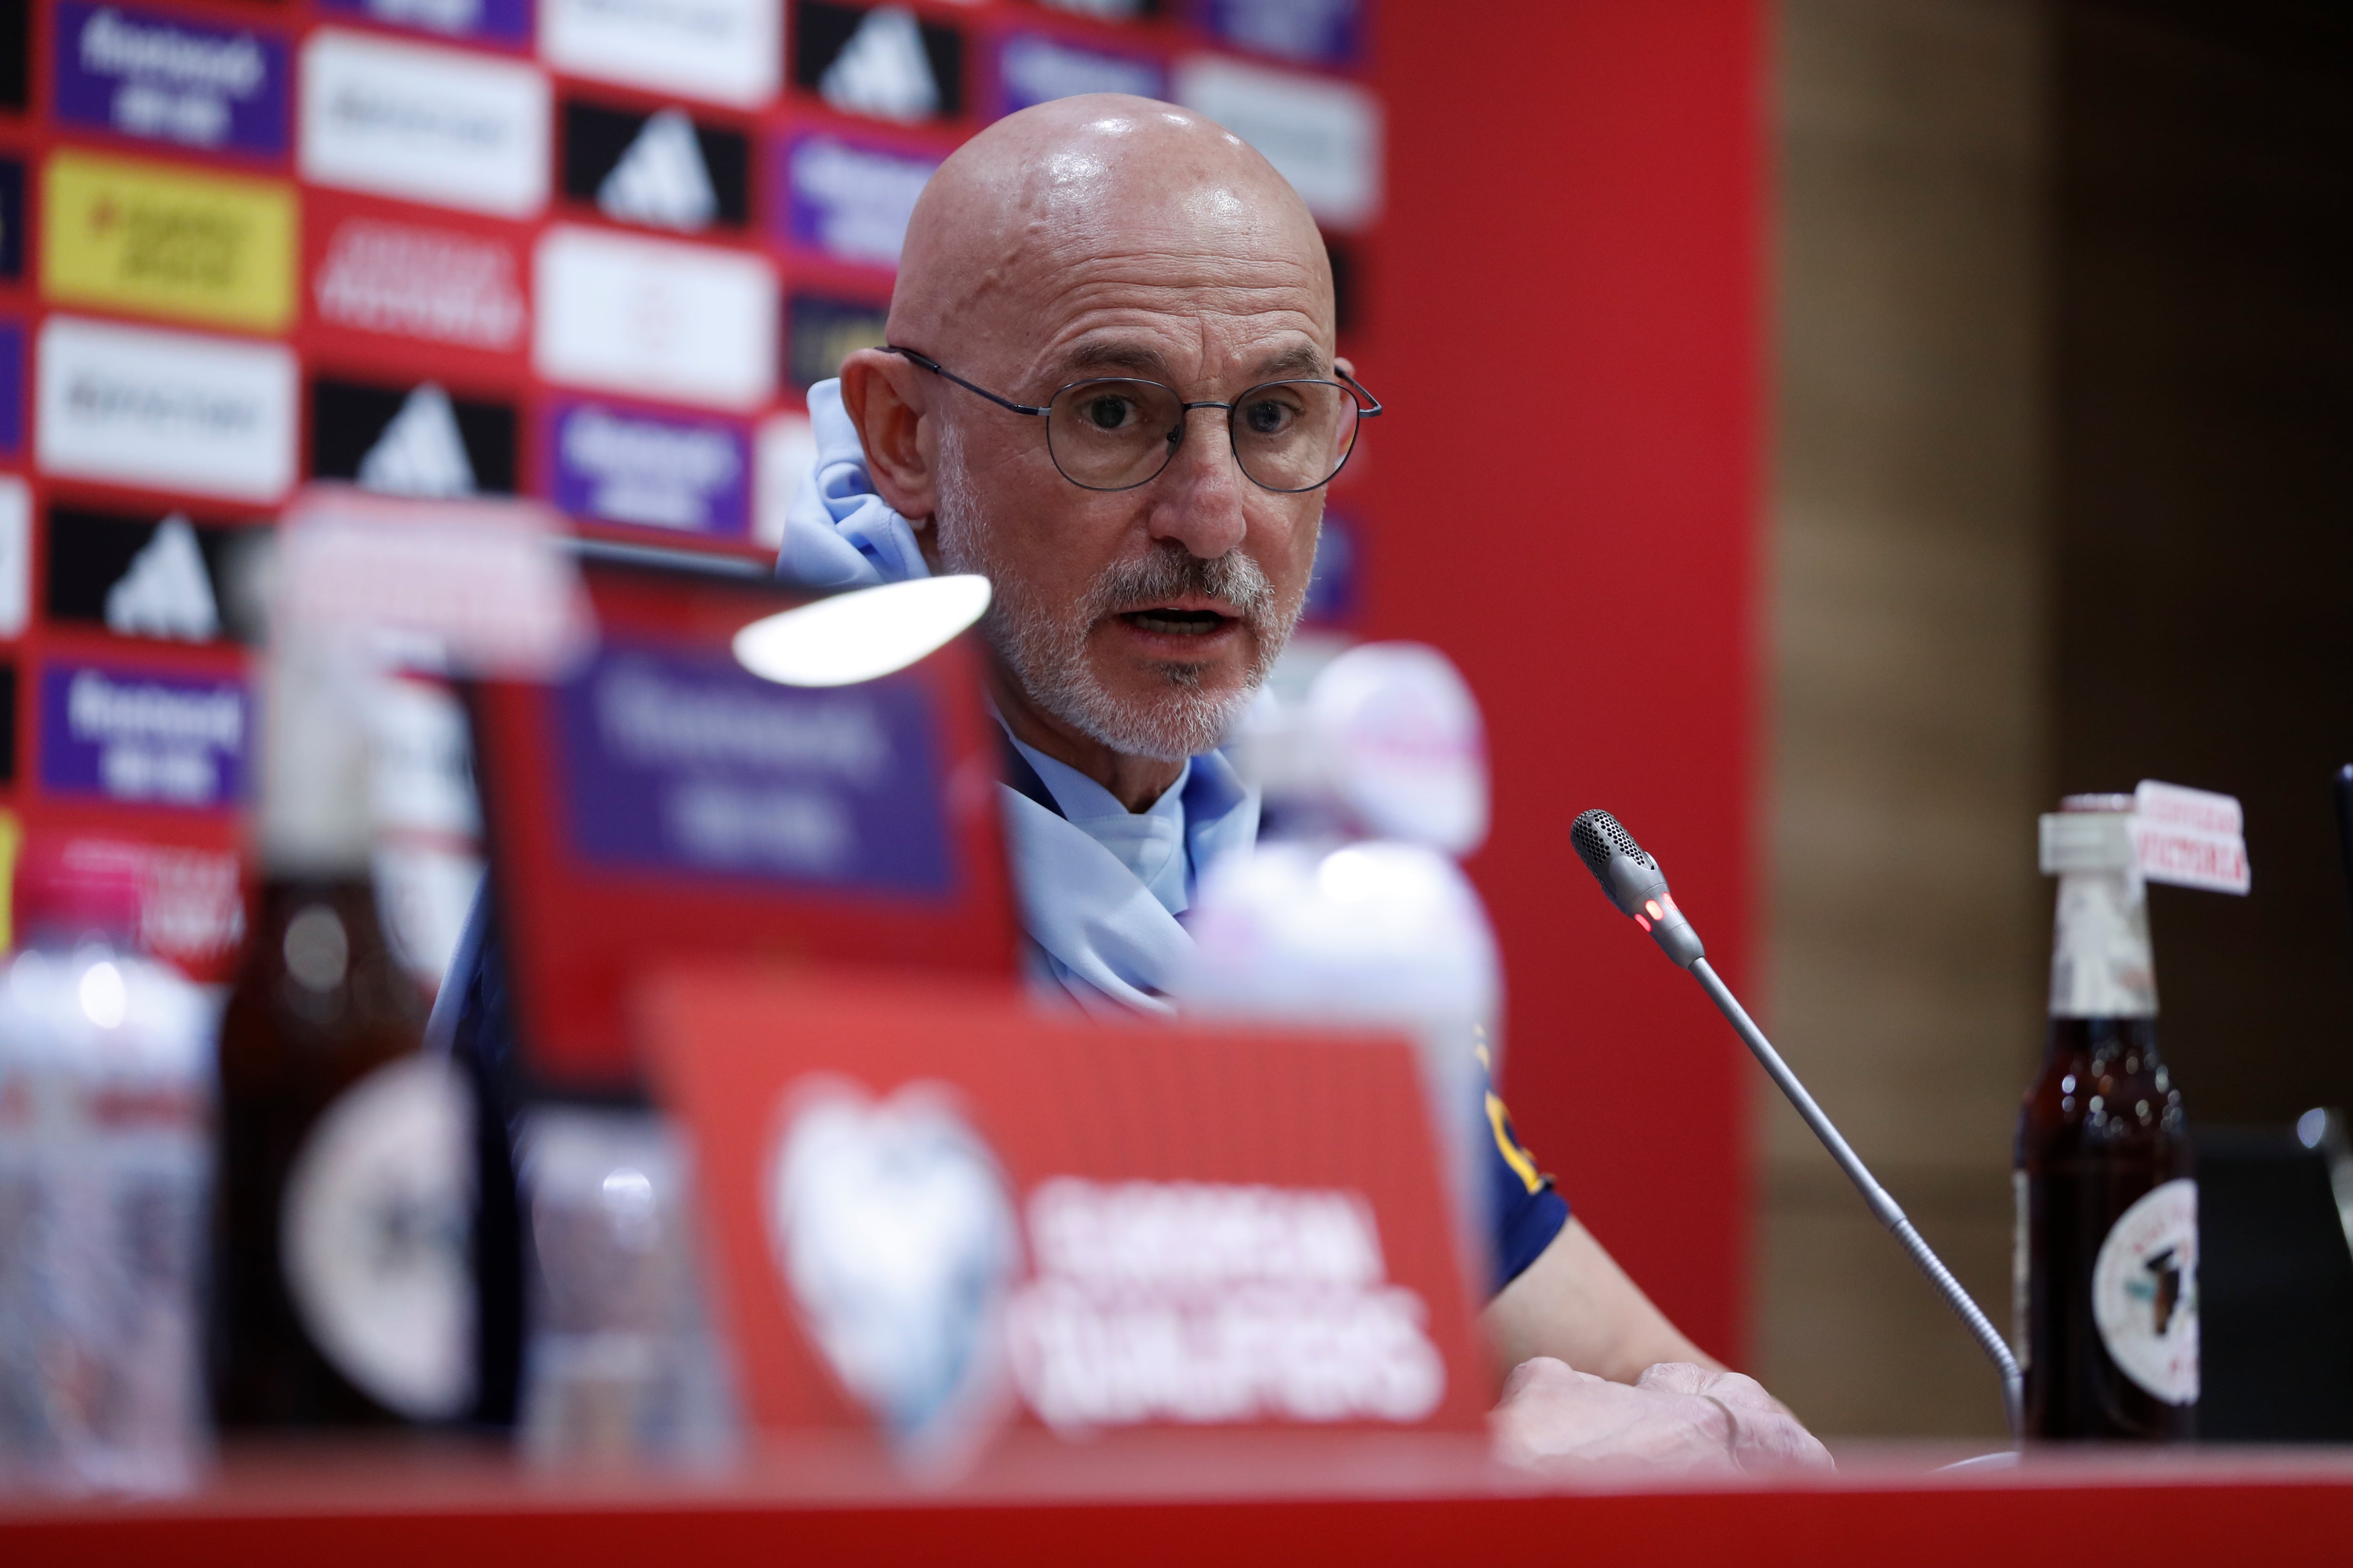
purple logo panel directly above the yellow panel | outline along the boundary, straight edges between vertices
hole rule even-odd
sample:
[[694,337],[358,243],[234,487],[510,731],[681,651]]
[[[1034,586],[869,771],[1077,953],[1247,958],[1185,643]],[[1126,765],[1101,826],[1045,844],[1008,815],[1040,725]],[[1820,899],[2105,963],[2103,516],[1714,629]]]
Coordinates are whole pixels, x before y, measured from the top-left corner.
[[56,118],[191,148],[285,153],[287,47],[254,28],[59,0]]

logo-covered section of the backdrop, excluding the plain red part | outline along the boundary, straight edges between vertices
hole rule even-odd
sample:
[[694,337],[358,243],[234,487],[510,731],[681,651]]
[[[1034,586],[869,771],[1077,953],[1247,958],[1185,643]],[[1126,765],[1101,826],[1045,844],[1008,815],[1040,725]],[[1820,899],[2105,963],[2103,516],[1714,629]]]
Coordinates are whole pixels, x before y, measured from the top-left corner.
[[219,978],[256,717],[235,559],[289,491],[769,552],[802,395],[880,341],[965,136],[1089,89],[1198,103],[1353,280],[1367,59],[1358,0],[0,0],[9,809],[136,846],[151,940]]

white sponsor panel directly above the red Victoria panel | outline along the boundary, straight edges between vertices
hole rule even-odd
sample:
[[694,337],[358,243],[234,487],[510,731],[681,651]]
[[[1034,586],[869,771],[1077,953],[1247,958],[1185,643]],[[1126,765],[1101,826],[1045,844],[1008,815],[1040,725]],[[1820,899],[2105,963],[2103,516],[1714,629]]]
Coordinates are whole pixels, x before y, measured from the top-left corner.
[[548,78],[534,66],[320,28],[301,61],[301,172],[504,219],[548,202]]

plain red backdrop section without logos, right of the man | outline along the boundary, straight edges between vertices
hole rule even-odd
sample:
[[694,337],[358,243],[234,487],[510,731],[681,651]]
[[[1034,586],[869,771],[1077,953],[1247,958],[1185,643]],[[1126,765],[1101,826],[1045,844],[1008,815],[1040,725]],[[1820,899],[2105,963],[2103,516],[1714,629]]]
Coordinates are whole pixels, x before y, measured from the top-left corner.
[[1739,1041],[1602,900],[1569,820],[1659,856],[1748,978],[1762,451],[1762,7],[1381,7],[1388,212],[1358,357],[1367,632],[1487,708],[1473,863],[1520,1133],[1701,1345],[1744,1347]]

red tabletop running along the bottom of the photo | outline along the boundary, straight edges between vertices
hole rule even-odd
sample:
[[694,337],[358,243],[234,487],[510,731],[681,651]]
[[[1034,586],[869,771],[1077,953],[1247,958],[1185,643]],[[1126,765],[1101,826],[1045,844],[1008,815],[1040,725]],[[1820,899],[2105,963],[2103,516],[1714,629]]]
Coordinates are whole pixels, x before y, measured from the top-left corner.
[[233,1450],[167,1502],[0,1500],[0,1563],[2322,1563],[2353,1561],[2353,1450],[2031,1455],[1861,1448],[1807,1483],[1534,1479],[1471,1439],[1016,1436],[915,1488],[856,1446],[706,1474],[534,1469],[494,1450]]

